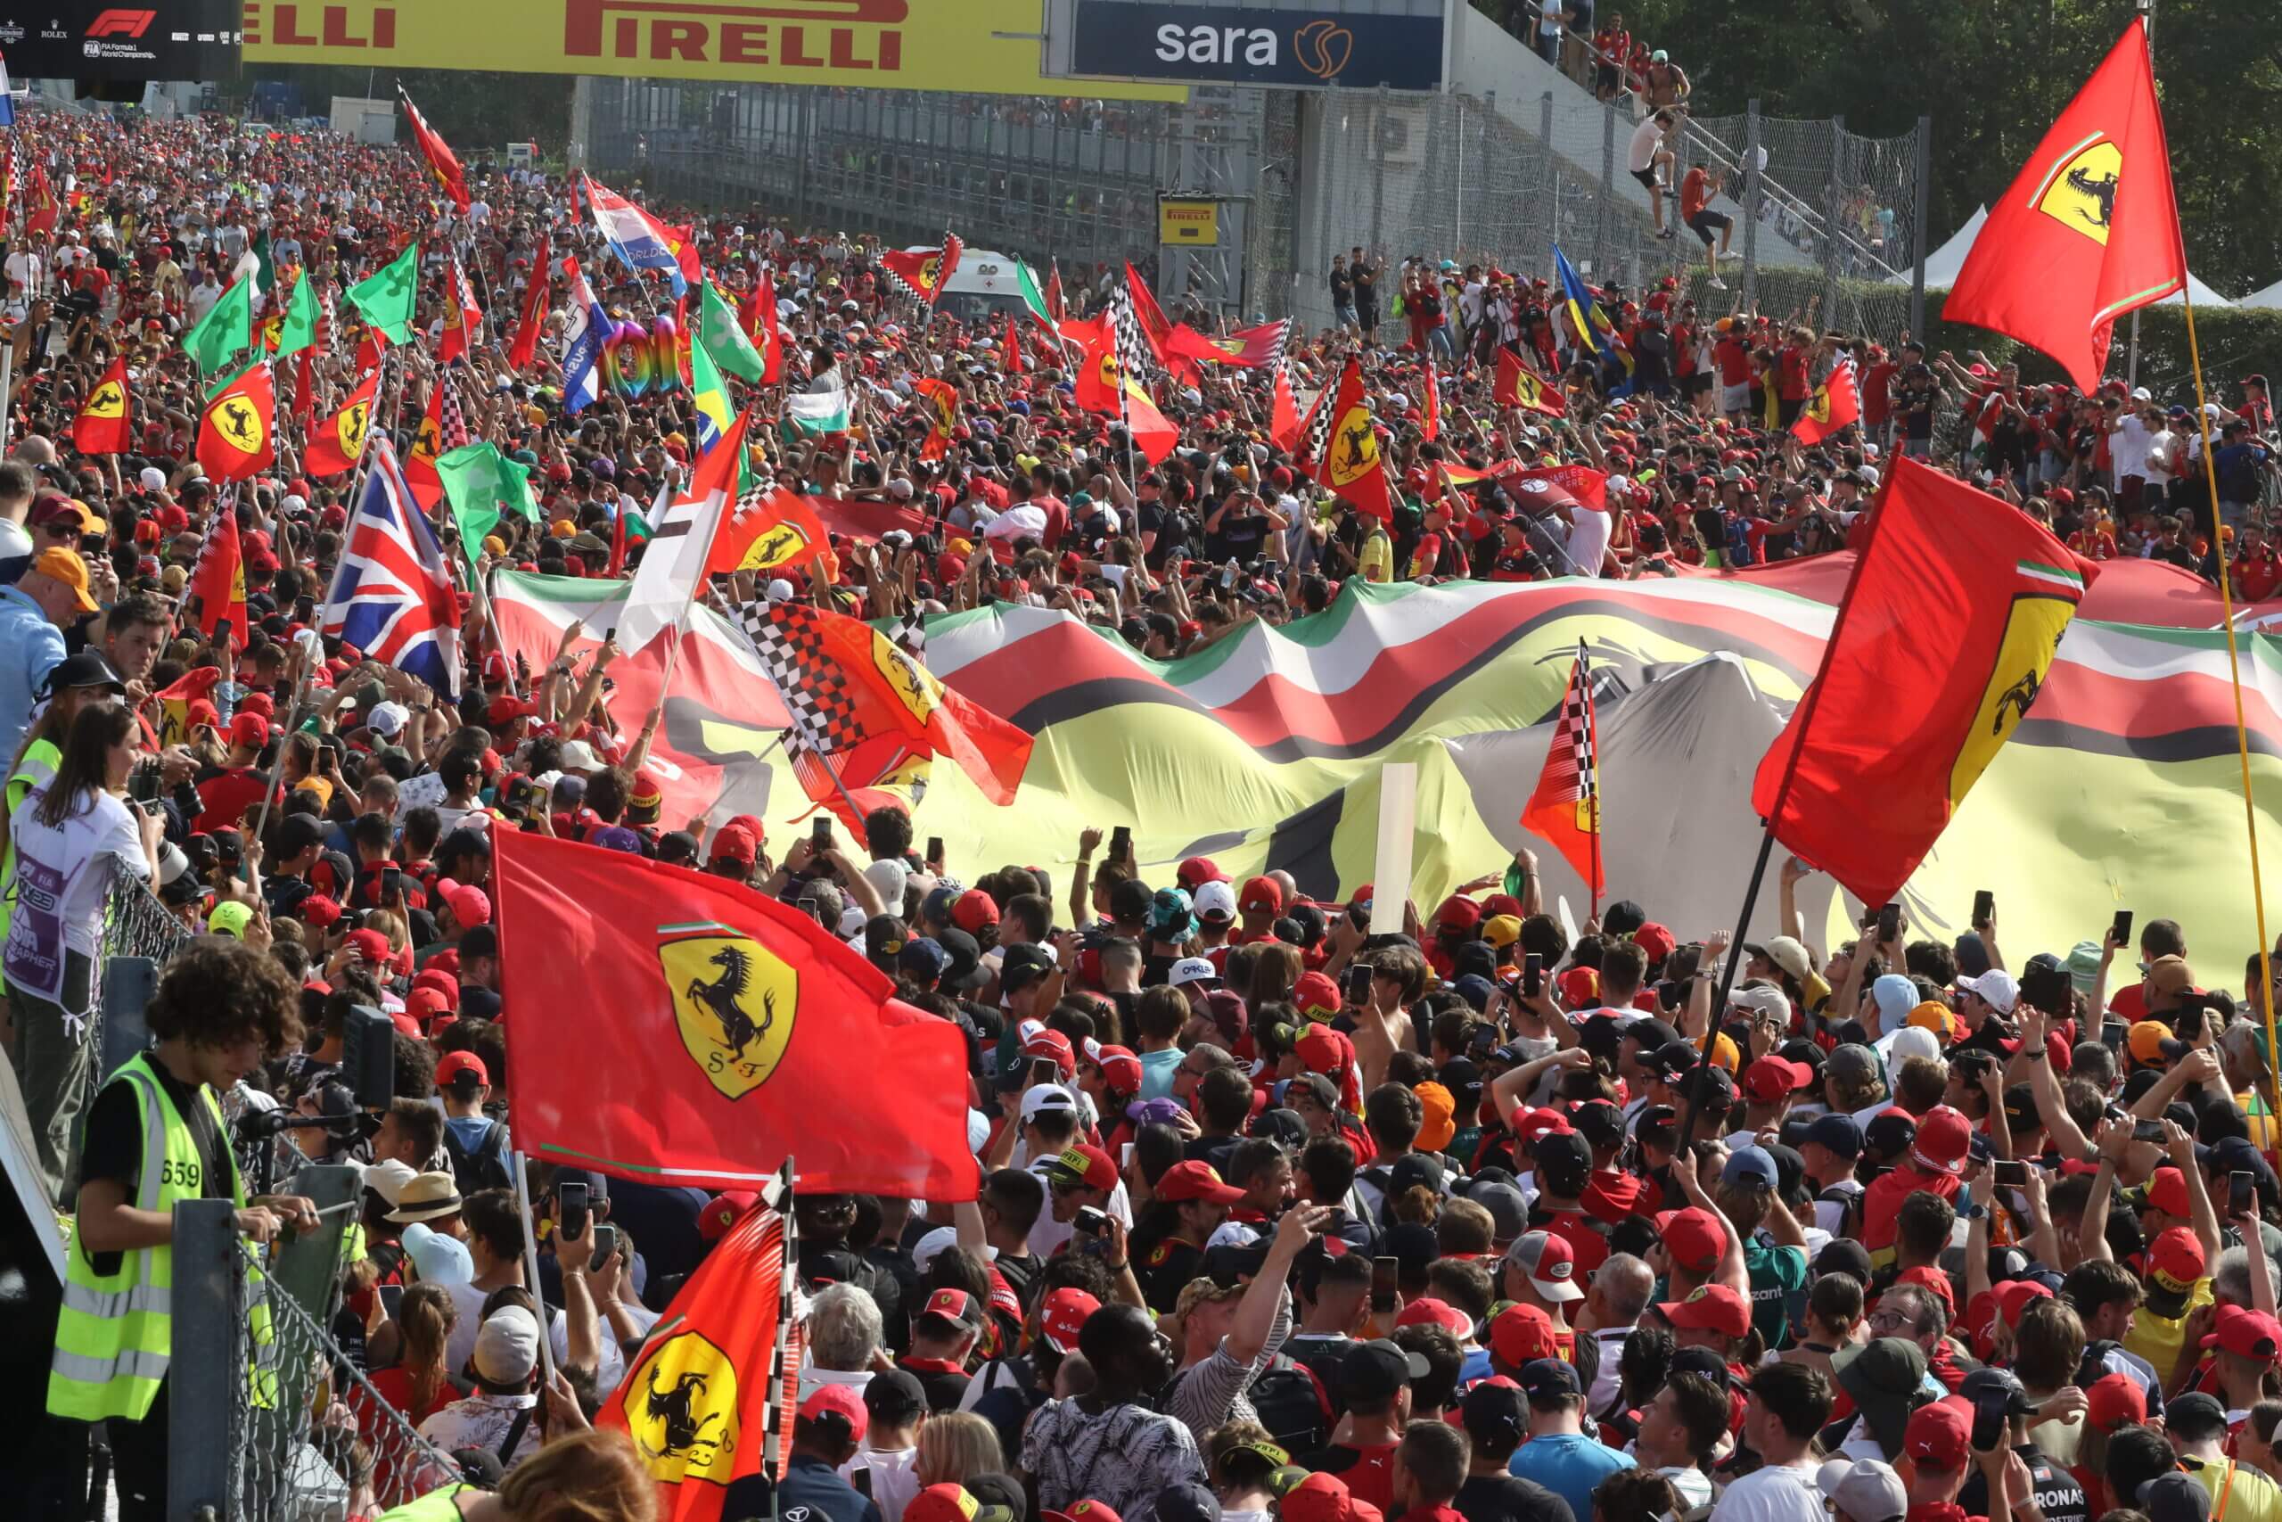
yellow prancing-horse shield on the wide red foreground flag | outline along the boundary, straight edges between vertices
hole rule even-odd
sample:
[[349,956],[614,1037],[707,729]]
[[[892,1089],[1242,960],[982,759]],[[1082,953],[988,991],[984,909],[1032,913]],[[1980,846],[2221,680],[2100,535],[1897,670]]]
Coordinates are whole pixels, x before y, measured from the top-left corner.
[[657,963],[705,1082],[730,1100],[767,1084],[792,1045],[801,974],[726,924],[657,926]]

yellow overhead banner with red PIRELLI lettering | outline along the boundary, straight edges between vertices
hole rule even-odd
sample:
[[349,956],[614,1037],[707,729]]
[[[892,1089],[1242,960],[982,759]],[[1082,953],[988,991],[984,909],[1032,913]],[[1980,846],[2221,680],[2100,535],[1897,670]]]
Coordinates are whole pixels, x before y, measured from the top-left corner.
[[246,0],[244,59],[1068,94],[1038,73],[1038,0]]

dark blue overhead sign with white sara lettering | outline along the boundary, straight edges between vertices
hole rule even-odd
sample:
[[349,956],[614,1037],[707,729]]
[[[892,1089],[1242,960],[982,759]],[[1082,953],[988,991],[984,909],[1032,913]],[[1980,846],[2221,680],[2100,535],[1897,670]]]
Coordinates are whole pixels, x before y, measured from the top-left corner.
[[1070,71],[1182,84],[1442,89],[1442,16],[1077,0]]

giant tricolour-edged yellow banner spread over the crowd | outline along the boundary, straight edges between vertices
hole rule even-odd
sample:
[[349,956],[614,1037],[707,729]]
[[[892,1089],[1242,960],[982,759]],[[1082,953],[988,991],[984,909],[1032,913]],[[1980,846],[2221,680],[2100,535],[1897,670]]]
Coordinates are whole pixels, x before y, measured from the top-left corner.
[[[956,767],[933,769],[917,835],[942,835],[970,879],[1000,863],[1047,867],[1059,899],[1079,831],[1127,824],[1152,881],[1203,853],[1239,881],[1282,867],[1330,899],[1369,881],[1378,769],[1410,760],[1413,894],[1431,908],[1529,844],[1515,821],[1581,639],[1597,673],[1607,897],[1650,904],[1682,938],[1732,929],[1759,840],[1750,778],[1814,673],[1848,559],[1778,577],[1789,589],[1759,577],[1351,584],[1314,618],[1253,625],[1171,664],[1050,609],[933,618],[933,673],[1029,730],[1036,748],[1011,808],[986,803]],[[2211,926],[2195,949],[2214,981],[2250,954],[2223,637],[2097,621],[2104,600],[2195,618],[2191,577],[2156,570],[2113,566],[2067,628],[2026,721],[1901,894],[1924,933],[1963,931],[1974,892],[1990,888],[2013,965],[2099,940],[2118,908],[2141,922],[2198,915]],[[589,632],[612,628],[609,602],[582,600],[591,586],[500,577],[509,641],[539,664],[570,609],[586,612]],[[685,648],[691,675],[675,675],[662,735],[707,748],[659,748],[680,774],[669,821],[742,812],[717,808],[712,787],[746,803],[767,792],[755,808],[783,837],[808,799],[790,776],[771,785],[783,762],[767,742],[783,717],[730,641],[701,616]],[[630,701],[621,723],[634,728],[657,673],[612,671]],[[2243,671],[2261,828],[2273,831],[2282,643],[2248,639]],[[1552,899],[1584,922],[1584,883],[1556,853],[1540,860]],[[1762,933],[1775,931],[1771,899]],[[1800,904],[1826,947],[1858,908],[1828,879],[1810,879]]]

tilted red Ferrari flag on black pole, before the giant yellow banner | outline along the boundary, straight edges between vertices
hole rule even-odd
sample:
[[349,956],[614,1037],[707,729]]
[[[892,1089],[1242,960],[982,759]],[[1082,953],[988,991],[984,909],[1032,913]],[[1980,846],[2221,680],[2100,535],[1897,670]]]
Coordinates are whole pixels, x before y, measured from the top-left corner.
[[1750,790],[1775,840],[1892,901],[2029,714],[2095,575],[2026,513],[1896,459],[1821,671]]

